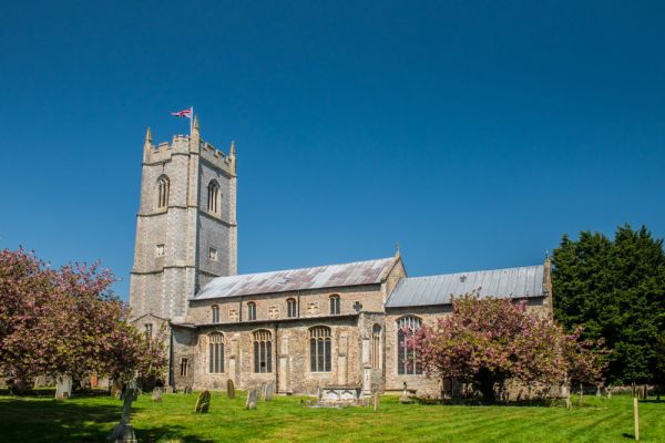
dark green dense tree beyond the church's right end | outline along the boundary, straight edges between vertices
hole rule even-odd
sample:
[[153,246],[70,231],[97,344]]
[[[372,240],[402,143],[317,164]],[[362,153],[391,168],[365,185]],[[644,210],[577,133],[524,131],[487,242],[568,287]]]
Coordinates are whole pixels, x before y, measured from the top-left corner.
[[646,227],[618,227],[614,239],[563,236],[553,255],[556,319],[583,339],[604,339],[612,384],[656,382],[665,358],[665,254]]

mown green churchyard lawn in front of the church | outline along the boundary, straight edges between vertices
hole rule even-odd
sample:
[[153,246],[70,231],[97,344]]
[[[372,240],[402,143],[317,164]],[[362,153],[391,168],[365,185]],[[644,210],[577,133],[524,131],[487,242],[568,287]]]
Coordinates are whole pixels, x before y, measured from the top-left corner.
[[[371,408],[309,409],[299,398],[277,396],[244,409],[244,393],[213,393],[211,412],[194,414],[196,393],[149,394],[134,402],[140,442],[631,442],[633,400],[585,398],[567,411],[546,406],[400,404],[383,396]],[[2,442],[104,442],[122,402],[109,396],[0,396]],[[640,441],[665,442],[665,402],[640,402]]]

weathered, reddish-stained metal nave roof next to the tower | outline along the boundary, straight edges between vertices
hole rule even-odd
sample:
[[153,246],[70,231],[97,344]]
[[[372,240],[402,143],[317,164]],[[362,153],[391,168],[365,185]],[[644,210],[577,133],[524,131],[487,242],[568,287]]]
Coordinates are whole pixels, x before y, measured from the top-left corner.
[[217,277],[191,300],[380,284],[396,257],[316,268]]

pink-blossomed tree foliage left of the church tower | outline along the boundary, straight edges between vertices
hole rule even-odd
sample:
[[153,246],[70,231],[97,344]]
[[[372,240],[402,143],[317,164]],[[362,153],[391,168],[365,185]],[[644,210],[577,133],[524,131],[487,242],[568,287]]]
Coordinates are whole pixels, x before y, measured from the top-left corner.
[[33,254],[0,251],[0,368],[37,375],[150,375],[164,370],[164,346],[129,321],[129,307],[99,266],[52,269]]

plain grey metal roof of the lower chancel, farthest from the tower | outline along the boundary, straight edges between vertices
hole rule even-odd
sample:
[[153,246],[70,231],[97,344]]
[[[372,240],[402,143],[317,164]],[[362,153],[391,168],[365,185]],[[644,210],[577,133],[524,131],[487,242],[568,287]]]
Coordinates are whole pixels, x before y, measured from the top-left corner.
[[477,291],[480,297],[543,297],[544,266],[447,274],[403,278],[397,285],[387,308],[450,305],[451,297]]

